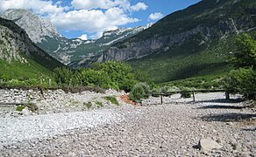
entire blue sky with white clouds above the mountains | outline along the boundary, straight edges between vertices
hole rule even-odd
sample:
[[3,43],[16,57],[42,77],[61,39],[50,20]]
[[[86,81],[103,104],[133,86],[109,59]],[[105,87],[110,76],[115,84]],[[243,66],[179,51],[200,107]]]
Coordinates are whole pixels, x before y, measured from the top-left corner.
[[200,0],[0,0],[0,13],[27,9],[46,18],[66,38],[96,39],[103,31],[156,23]]

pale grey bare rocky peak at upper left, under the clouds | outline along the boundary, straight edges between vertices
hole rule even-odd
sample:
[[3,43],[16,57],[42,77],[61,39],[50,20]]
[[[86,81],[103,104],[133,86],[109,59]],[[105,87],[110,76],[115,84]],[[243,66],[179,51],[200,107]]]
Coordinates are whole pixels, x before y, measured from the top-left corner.
[[33,14],[30,10],[10,9],[0,17],[9,19],[23,28],[34,43],[40,43],[46,36],[60,37],[55,26],[46,19]]

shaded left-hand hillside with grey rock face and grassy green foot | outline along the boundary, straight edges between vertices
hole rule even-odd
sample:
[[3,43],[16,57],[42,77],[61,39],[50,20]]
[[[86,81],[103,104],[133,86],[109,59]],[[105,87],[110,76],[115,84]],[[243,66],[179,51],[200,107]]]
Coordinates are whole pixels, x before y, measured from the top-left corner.
[[32,43],[17,24],[0,17],[0,77],[39,78],[52,76],[63,66]]

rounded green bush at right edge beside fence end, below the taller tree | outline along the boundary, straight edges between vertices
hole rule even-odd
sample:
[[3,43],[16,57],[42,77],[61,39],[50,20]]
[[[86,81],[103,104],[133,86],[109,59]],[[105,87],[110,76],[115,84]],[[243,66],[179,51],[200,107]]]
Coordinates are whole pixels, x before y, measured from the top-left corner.
[[252,68],[233,70],[224,78],[224,89],[231,93],[240,93],[245,99],[256,99],[256,72]]

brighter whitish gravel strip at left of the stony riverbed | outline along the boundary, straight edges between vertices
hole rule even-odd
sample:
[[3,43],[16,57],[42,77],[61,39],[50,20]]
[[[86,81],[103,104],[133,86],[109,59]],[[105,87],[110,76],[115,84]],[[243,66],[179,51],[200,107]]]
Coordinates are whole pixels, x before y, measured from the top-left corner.
[[91,128],[121,120],[121,115],[110,110],[5,117],[0,118],[0,141],[1,145],[6,145],[21,140],[51,138],[71,129]]

